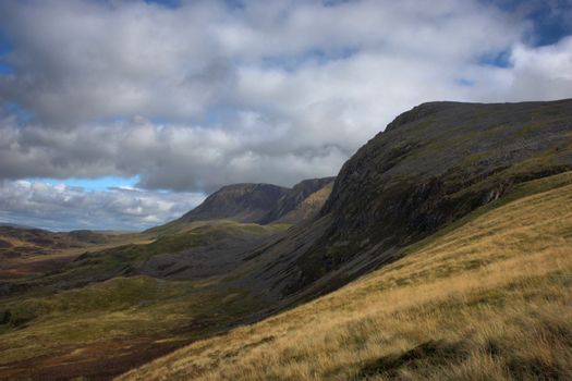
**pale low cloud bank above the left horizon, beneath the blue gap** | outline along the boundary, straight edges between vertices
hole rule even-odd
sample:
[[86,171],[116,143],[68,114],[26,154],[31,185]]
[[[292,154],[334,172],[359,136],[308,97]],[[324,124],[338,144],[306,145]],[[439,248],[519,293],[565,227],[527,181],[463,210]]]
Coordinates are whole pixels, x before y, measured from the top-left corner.
[[0,221],[50,230],[141,230],[179,218],[200,194],[134,188],[86,190],[64,184],[0,182]]

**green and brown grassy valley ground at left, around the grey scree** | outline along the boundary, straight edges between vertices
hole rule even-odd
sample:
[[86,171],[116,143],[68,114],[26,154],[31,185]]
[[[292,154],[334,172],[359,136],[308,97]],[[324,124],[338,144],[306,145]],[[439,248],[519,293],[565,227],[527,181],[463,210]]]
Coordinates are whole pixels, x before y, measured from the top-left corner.
[[163,254],[184,258],[200,247],[256,242],[285,228],[171,224],[155,239],[143,234],[148,243],[88,253],[59,272],[5,283],[16,292],[0,296],[0,379],[109,378],[228,330],[266,305],[244,287],[223,284],[226,273],[177,281],[142,274],[138,267]]

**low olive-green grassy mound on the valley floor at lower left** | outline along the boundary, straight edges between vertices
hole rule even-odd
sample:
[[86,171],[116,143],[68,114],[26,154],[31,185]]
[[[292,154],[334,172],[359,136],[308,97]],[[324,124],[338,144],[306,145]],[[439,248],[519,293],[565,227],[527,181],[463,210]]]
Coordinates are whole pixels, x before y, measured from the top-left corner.
[[0,325],[0,365],[71,353],[111,340],[191,340],[263,307],[245,290],[217,291],[199,283],[142,275],[115,278],[48,297],[14,298],[3,304],[0,312],[10,316]]

